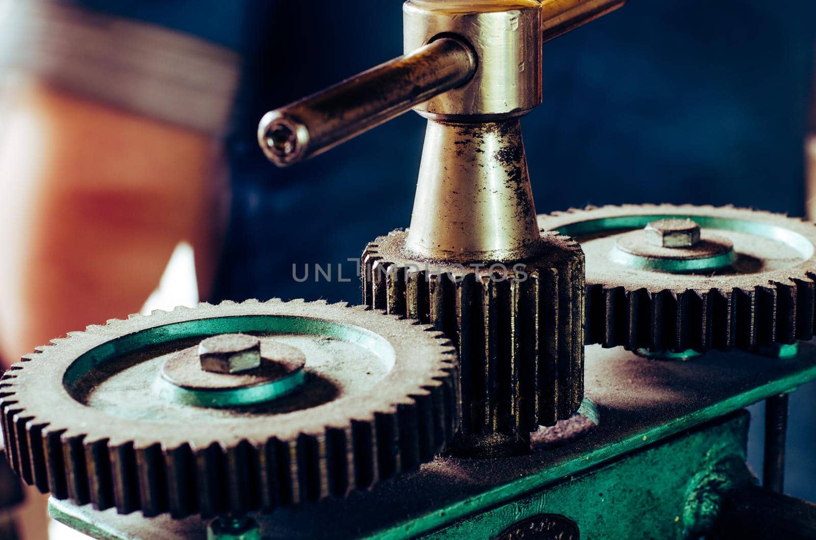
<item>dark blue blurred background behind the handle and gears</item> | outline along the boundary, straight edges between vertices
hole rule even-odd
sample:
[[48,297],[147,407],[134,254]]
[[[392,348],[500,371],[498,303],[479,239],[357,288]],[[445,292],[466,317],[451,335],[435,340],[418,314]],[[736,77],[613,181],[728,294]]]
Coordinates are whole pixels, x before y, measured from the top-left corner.
[[[86,2],[246,54],[216,296],[359,302],[356,280],[299,284],[292,264],[344,263],[348,276],[366,242],[407,226],[424,121],[406,114],[288,170],[264,161],[255,126],[268,108],[400,55],[401,2]],[[802,215],[814,42],[813,0],[630,0],[546,44],[544,104],[522,121],[539,212],[665,201]],[[811,500],[814,402],[813,385],[792,397],[788,444],[787,491]]]

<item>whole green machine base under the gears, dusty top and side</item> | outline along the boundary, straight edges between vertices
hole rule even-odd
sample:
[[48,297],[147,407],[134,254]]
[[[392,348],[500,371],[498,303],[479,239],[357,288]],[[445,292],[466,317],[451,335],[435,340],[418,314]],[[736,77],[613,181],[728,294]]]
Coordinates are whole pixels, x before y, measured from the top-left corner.
[[[585,416],[536,434],[532,454],[439,457],[371,491],[255,519],[264,538],[697,538],[716,520],[718,490],[752,482],[742,409],[814,379],[814,343],[788,358],[692,361],[588,347]],[[95,538],[206,538],[197,518],[53,499],[50,511]]]

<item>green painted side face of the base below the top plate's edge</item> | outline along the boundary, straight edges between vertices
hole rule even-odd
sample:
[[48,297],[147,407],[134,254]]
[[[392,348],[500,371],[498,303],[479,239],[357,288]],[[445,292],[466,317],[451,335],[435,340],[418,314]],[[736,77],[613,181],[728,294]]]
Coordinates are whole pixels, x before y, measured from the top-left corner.
[[488,540],[539,514],[570,518],[581,538],[684,538],[695,476],[716,463],[743,463],[747,432],[748,414],[741,410],[423,538]]

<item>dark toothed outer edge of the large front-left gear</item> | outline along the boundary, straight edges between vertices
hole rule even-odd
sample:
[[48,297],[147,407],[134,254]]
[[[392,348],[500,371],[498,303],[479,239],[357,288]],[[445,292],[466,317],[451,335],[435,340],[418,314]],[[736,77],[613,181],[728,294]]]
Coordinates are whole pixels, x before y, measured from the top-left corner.
[[[272,300],[274,306],[284,306]],[[310,304],[294,301],[299,310]],[[225,303],[223,313],[240,313],[246,303]],[[251,305],[262,305],[258,301]],[[267,305],[268,303],[263,303]],[[180,308],[157,314],[162,318],[192,320],[206,316],[214,306]],[[334,310],[375,317],[367,306],[348,303],[316,303],[318,313]],[[234,311],[233,311],[234,310]],[[211,315],[210,315],[211,316]],[[172,319],[173,321],[176,318]],[[396,318],[396,317],[395,317]],[[149,316],[136,316],[145,325]],[[356,321],[356,320],[355,320]],[[128,321],[110,321],[89,332],[100,339],[128,333]],[[438,341],[439,363],[425,383],[394,397],[393,405],[368,418],[350,419],[346,427],[326,427],[321,433],[302,433],[295,440],[270,438],[238,440],[234,444],[212,442],[196,448],[190,444],[165,447],[161,442],[136,445],[134,440],[76,432],[42,422],[19,404],[18,374],[29,363],[48,363],[47,355],[60,355],[59,347],[82,339],[83,333],[55,340],[37,353],[13,365],[0,382],[3,436],[14,469],[43,493],[69,498],[78,505],[93,504],[98,510],[116,507],[127,514],[144,516],[169,512],[174,518],[193,514],[202,517],[225,512],[273,511],[277,507],[344,497],[351,490],[367,489],[432,459],[452,440],[459,425],[458,364],[450,340],[427,325]],[[424,337],[422,334],[420,337]],[[64,354],[64,353],[63,353]],[[30,376],[30,375],[29,375]]]

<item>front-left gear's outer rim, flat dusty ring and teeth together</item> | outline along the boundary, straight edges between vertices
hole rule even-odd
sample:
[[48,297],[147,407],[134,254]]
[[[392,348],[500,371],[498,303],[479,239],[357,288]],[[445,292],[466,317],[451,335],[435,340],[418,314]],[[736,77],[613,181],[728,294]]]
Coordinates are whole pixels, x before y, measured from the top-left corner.
[[[84,422],[80,426],[74,421],[81,414],[63,414],[64,407],[42,405],[42,391],[31,384],[60,366],[72,365],[76,355],[122,335],[184,321],[267,314],[326,317],[379,331],[401,351],[398,361],[405,356],[400,365],[414,366],[408,370],[412,374],[392,381],[400,385],[399,392],[379,398],[383,402],[365,412],[350,413],[345,424],[335,418],[332,425],[311,427],[294,438],[278,438],[270,429],[262,439],[234,441],[232,435],[209,440],[208,434],[202,436],[204,441],[192,435],[188,440],[182,427],[153,439],[153,433],[121,427],[129,421],[115,414],[105,426]],[[420,349],[421,364],[428,364],[421,374],[406,356]],[[175,518],[273,511],[342,497],[430,460],[453,439],[458,426],[457,377],[450,340],[431,325],[397,321],[397,314],[325,301],[202,304],[113,321],[43,348],[3,375],[0,418],[14,469],[55,498],[91,502],[100,510],[116,507],[120,513],[140,510],[144,516],[170,512]],[[60,395],[62,405],[79,406],[62,385],[61,375],[54,380],[58,383],[49,396]]]

